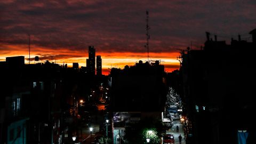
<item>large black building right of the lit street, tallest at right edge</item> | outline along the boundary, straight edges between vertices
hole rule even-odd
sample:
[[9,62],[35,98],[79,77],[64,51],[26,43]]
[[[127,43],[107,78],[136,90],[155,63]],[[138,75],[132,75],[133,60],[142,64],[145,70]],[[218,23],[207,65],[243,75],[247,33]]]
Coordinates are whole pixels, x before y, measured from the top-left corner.
[[256,45],[240,36],[227,45],[209,35],[204,49],[182,52],[186,143],[238,143],[240,131],[255,131],[246,116],[256,109]]

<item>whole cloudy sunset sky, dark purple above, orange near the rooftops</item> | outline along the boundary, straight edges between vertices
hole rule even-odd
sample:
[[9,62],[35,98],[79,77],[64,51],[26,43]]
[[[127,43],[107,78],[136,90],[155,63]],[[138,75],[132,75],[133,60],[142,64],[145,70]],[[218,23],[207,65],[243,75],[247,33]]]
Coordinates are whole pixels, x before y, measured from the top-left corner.
[[[86,66],[88,46],[101,55],[103,74],[147,60],[146,10],[149,12],[149,56],[165,70],[179,69],[179,50],[198,49],[205,31],[230,43],[252,41],[256,1],[0,1],[0,61],[23,55],[34,63]],[[28,60],[25,61],[28,63]]]

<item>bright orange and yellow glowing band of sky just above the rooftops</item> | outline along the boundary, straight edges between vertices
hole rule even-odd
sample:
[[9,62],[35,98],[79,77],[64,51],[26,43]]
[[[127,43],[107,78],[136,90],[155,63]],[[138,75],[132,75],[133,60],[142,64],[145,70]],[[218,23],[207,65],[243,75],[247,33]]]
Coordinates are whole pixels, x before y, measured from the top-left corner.
[[[2,44],[3,46],[3,44]],[[28,63],[29,53],[28,45],[4,45],[8,49],[0,55],[0,61],[5,61],[6,57],[15,57],[23,55],[25,56],[25,63]],[[20,49],[23,47],[23,49]],[[24,49],[26,48],[26,49]],[[136,62],[142,60],[146,62],[147,53],[135,53],[135,52],[97,52],[95,55],[101,55],[102,59],[102,74],[108,75],[109,69],[121,68],[124,66],[134,66]],[[177,57],[179,52],[161,52],[161,53],[149,53],[150,60],[160,60],[161,64],[165,66],[166,72],[171,72],[175,69],[179,69],[180,63]],[[45,47],[36,47],[30,45],[30,63],[36,63],[34,61],[35,56],[39,57],[39,62],[44,63],[46,60],[57,63],[59,65],[67,64],[68,67],[72,67],[74,62],[78,62],[79,68],[81,66],[86,67],[86,59],[88,59],[88,51],[81,52],[75,50],[69,50],[65,48],[49,49]]]

